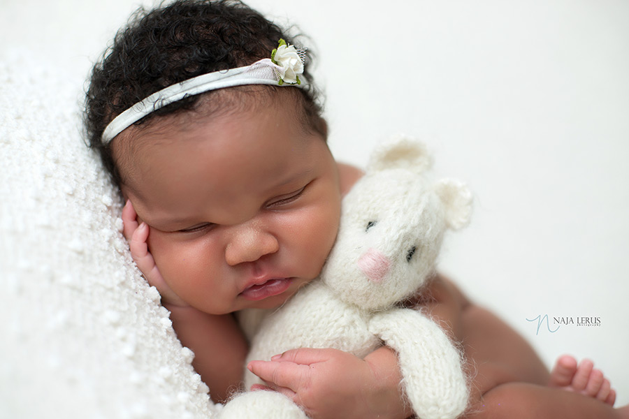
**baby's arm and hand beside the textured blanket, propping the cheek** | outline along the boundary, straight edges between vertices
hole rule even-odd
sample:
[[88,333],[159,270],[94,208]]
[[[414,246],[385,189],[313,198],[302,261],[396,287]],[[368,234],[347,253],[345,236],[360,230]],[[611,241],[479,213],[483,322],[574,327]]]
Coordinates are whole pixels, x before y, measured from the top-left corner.
[[237,390],[243,379],[247,341],[231,314],[212,315],[189,306],[176,295],[161,277],[146,240],[150,228],[139,223],[133,205],[127,201],[122,210],[124,237],[129,241],[131,256],[148,283],[161,295],[161,303],[171,311],[171,321],[183,346],[195,356],[192,366],[210,388],[215,402],[224,402],[229,392]]

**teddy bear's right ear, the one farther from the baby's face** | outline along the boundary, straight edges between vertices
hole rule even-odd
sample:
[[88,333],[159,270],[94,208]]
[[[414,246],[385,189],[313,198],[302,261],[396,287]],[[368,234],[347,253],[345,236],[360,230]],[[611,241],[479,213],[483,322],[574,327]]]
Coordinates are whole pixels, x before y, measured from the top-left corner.
[[470,222],[472,215],[472,192],[465,184],[454,179],[441,179],[435,185],[449,228],[458,230]]

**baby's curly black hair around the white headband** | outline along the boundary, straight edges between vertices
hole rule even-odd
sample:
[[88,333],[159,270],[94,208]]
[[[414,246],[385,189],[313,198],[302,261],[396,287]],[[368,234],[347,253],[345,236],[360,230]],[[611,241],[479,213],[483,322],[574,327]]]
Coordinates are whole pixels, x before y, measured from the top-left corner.
[[[84,114],[89,147],[99,151],[105,168],[120,186],[110,144],[101,142],[104,129],[117,115],[171,84],[268,58],[280,38],[294,44],[280,27],[240,0],[176,0],[153,10],[140,8],[92,69]],[[298,92],[307,128],[326,138],[326,122],[308,62],[304,76],[309,87],[290,90]],[[199,98],[208,94],[183,98],[136,124],[194,109]]]

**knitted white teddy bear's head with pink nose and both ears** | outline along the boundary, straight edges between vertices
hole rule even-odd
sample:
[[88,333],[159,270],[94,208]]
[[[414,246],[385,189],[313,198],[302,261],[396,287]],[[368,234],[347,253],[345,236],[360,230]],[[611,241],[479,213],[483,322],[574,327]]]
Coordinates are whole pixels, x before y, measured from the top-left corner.
[[434,272],[444,231],[468,223],[472,194],[431,182],[426,147],[407,138],[380,145],[366,175],[342,201],[338,237],[321,280],[352,304],[386,309]]

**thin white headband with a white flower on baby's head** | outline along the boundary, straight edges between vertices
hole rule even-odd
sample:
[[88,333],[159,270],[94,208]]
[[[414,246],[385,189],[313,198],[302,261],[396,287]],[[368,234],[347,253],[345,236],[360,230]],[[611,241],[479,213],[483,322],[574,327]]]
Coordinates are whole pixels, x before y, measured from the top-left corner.
[[101,142],[108,144],[134,122],[187,96],[245,84],[305,87],[306,80],[299,78],[303,74],[304,61],[305,50],[298,50],[280,39],[270,59],[261,59],[250,66],[199,75],[156,91],[115,117],[103,131]]

